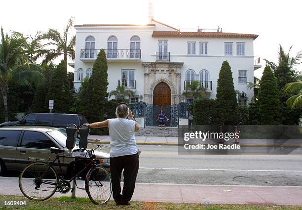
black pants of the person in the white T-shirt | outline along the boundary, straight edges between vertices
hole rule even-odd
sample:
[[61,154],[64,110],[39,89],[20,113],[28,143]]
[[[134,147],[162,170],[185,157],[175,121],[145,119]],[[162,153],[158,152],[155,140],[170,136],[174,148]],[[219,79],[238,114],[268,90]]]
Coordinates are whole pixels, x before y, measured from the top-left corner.
[[[121,195],[120,178],[121,172],[124,169],[124,186],[123,194]],[[110,158],[110,171],[112,177],[112,192],[113,199],[116,203],[127,203],[131,200],[137,172],[139,169],[139,156],[125,155],[115,158]]]

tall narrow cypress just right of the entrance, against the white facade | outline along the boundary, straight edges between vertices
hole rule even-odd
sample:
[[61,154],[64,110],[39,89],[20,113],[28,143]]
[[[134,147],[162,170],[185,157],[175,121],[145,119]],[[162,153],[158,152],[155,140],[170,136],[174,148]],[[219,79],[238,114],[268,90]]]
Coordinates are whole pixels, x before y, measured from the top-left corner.
[[232,71],[227,61],[223,62],[219,72],[216,102],[216,123],[219,125],[235,125],[238,105]]

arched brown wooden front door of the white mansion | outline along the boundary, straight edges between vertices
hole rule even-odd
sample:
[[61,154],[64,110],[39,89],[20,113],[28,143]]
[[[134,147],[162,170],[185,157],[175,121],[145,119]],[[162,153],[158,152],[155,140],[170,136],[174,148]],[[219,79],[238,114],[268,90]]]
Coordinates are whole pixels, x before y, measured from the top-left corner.
[[171,89],[166,83],[159,83],[153,90],[153,104],[158,106],[171,105]]

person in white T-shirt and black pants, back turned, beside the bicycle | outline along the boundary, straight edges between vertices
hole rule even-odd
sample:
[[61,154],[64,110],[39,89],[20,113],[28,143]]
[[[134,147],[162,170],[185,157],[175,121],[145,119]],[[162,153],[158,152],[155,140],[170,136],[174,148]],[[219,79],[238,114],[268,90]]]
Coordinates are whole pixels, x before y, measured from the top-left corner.
[[[115,119],[84,124],[91,128],[108,127],[110,135],[110,171],[112,177],[113,199],[116,205],[130,205],[135,180],[139,169],[139,155],[134,133],[139,125],[134,120],[126,103],[119,103],[115,110]],[[127,119],[130,117],[130,120]],[[124,186],[121,194],[120,178],[124,169]]]

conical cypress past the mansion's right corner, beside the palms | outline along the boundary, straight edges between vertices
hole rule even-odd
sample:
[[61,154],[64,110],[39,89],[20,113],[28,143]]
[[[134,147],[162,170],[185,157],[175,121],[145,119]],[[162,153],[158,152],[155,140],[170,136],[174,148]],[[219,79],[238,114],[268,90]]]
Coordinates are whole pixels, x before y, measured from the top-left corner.
[[277,87],[276,78],[268,65],[265,66],[261,78],[257,106],[261,125],[281,124],[280,91]]

